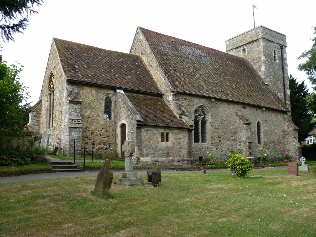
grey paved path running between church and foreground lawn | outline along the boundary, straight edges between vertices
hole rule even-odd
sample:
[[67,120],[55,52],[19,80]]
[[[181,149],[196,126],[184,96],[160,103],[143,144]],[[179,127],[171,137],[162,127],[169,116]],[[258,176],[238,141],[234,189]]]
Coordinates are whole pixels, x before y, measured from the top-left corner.
[[[287,167],[273,167],[273,168],[259,168],[255,170],[267,170],[267,169],[287,169]],[[135,170],[139,174],[147,174],[147,170]],[[121,171],[113,171],[113,175],[120,174]],[[161,173],[194,173],[199,171],[194,170],[162,170]],[[208,170],[208,173],[213,172],[227,172],[227,169],[220,170]],[[41,173],[41,174],[27,174],[20,176],[11,177],[0,177],[0,183],[11,183],[11,182],[21,182],[39,179],[58,179],[58,178],[68,178],[68,177],[86,177],[86,176],[97,176],[99,172],[55,172],[55,173]]]

